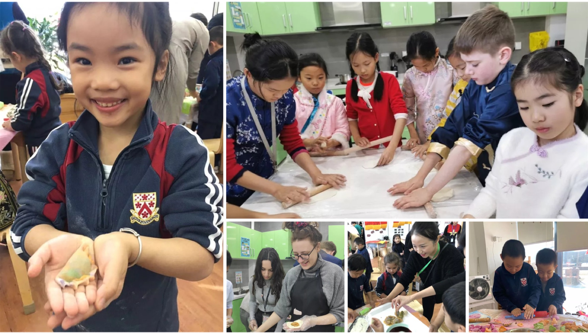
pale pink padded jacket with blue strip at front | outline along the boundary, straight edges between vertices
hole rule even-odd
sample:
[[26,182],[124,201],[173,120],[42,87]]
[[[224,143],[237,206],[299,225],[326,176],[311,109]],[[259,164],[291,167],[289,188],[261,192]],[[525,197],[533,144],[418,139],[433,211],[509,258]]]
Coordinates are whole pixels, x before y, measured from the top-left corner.
[[325,89],[318,97],[314,97],[302,86],[294,94],[294,100],[302,139],[330,137],[339,142],[339,149],[349,148],[349,121],[343,101],[339,97],[327,93]]

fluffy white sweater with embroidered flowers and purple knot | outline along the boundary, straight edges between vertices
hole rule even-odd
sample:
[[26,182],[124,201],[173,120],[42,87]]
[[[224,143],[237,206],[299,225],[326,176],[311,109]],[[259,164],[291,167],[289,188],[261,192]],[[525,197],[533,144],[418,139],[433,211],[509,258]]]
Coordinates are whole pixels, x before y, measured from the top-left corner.
[[576,203],[588,186],[588,136],[576,134],[543,146],[527,127],[500,140],[486,187],[470,204],[476,218],[579,218]]

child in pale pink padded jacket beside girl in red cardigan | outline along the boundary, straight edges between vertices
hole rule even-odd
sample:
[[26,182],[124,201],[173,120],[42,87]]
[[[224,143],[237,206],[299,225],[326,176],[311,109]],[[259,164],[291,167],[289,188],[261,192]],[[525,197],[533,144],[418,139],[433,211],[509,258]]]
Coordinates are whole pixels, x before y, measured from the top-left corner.
[[304,146],[309,151],[349,148],[349,122],[343,101],[327,93],[329,72],[318,53],[298,59],[298,80],[302,87],[294,94],[296,120]]

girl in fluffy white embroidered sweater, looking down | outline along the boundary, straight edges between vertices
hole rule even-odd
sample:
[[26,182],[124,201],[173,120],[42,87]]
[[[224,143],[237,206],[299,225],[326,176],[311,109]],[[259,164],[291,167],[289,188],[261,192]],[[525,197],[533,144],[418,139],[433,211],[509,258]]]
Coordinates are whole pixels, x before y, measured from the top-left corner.
[[583,75],[564,48],[523,56],[511,86],[527,127],[500,139],[486,187],[463,218],[579,218],[588,185]]

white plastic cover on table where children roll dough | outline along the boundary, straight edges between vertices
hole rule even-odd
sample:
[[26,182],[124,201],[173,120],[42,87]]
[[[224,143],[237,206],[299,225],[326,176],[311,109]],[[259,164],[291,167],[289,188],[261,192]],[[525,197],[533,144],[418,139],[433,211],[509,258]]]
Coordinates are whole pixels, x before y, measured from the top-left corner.
[[[410,151],[396,149],[390,164],[383,167],[363,168],[366,161],[379,157],[384,149],[365,149],[350,153],[349,156],[313,157],[316,166],[327,173],[343,174],[347,178],[346,186],[327,200],[316,203],[299,203],[283,209],[281,203],[272,195],[255,192],[242,205],[243,208],[268,214],[295,212],[303,218],[428,218],[424,207],[399,210],[393,203],[401,195],[390,195],[387,189],[416,175],[423,161],[415,158]],[[425,184],[436,175],[429,173]],[[283,185],[313,187],[312,180],[292,158],[287,157],[278,173],[270,180]],[[437,218],[459,218],[482,189],[476,175],[465,168],[459,171],[446,187],[453,188],[454,196],[450,200],[433,203]]]

